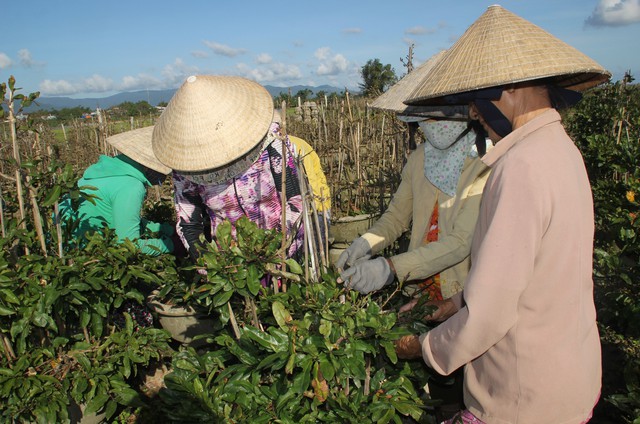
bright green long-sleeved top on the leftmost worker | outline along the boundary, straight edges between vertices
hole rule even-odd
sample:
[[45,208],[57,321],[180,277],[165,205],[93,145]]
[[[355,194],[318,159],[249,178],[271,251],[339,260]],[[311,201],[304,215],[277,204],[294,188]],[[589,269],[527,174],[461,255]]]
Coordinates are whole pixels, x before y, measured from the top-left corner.
[[[92,186],[96,190],[86,190],[97,196],[95,205],[83,201],[75,216],[79,219],[76,238],[88,231],[99,231],[107,226],[115,231],[120,240],[129,239],[140,250],[149,255],[173,251],[171,235],[174,231],[169,224],[158,224],[141,219],[140,211],[151,186],[143,173],[143,167],[125,155],[116,157],[100,156],[78,181],[78,186]],[[61,205],[63,219],[71,212],[70,203]],[[145,233],[159,233],[159,238],[142,238]]]

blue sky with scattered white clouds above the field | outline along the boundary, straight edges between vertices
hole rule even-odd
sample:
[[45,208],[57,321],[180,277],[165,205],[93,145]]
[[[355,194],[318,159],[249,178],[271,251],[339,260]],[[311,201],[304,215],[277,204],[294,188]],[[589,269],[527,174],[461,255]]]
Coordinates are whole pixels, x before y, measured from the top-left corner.
[[[396,75],[447,49],[499,4],[608,69],[640,78],[640,0],[7,0],[0,82],[101,98],[190,75],[358,91],[371,59]],[[638,79],[640,81],[640,79]]]

